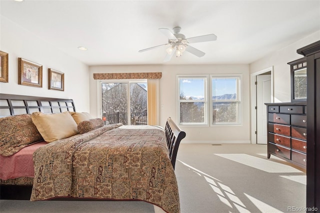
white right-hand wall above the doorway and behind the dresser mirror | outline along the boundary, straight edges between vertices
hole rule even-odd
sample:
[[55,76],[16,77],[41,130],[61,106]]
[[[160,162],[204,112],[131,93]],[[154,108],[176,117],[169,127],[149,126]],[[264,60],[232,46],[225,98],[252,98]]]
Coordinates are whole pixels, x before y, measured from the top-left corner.
[[290,65],[287,63],[303,57],[296,50],[320,39],[316,31],[250,64],[250,73],[273,66],[274,102],[290,102]]

